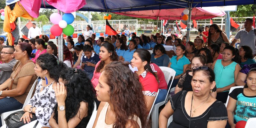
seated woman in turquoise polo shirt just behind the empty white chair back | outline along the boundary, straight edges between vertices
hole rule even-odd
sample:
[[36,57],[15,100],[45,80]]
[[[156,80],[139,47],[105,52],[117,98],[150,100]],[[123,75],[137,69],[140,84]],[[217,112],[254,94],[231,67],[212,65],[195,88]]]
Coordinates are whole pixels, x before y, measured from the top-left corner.
[[[178,84],[180,76],[182,75],[183,72],[185,72],[185,69],[187,68],[188,64],[190,63],[188,58],[186,58],[184,55],[185,51],[186,51],[186,47],[183,44],[177,44],[176,45],[176,56],[173,56],[172,59],[170,60],[170,63],[168,64],[168,67],[170,67],[176,71],[171,88],[175,87]],[[169,83],[171,84],[171,82],[169,82]],[[169,88],[170,84],[168,84],[168,88]]]

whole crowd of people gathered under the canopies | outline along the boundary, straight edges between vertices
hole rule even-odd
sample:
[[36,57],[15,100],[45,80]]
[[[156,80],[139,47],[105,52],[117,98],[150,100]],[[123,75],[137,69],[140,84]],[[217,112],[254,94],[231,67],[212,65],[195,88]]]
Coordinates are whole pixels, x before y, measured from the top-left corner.
[[[119,31],[121,35],[95,40],[90,28],[76,43],[71,36],[63,39],[63,62],[48,36],[20,38],[14,47],[0,37],[0,113],[25,106],[20,121],[27,127],[33,127],[29,122],[35,113],[38,125],[80,128],[88,124],[96,103],[93,128],[147,128],[157,92],[155,104],[175,88],[160,112],[160,128],[167,127],[172,115],[169,127],[235,128],[236,122],[256,117],[248,114],[256,103],[256,46],[247,45],[256,39],[249,35],[254,33],[252,19],[235,36],[241,40],[239,50],[216,24],[206,26],[194,42],[181,32],[165,38],[137,36],[128,29],[125,35]],[[172,49],[166,51],[166,46]],[[162,66],[176,72],[169,85]],[[37,77],[35,94],[24,104]],[[244,88],[229,94],[238,85]]]

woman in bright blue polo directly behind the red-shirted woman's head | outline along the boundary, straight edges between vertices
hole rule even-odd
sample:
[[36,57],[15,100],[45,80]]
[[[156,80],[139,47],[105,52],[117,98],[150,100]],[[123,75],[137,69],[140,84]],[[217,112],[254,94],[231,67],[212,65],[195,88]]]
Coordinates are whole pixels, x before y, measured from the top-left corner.
[[124,52],[123,60],[131,62],[133,52],[136,50],[137,45],[135,43],[135,40],[130,40],[129,42],[129,49]]

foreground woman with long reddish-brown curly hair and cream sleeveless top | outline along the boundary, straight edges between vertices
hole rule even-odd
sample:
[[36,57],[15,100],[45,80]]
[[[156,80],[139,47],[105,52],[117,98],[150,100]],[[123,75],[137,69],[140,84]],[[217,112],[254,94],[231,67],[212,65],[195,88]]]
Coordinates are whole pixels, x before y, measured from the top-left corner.
[[148,114],[139,77],[123,62],[109,64],[95,90],[101,102],[93,128],[147,127]]

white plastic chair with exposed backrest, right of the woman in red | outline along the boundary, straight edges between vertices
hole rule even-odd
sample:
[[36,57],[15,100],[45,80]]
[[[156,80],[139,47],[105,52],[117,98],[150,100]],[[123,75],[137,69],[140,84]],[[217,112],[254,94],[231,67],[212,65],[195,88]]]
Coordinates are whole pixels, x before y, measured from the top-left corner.
[[[168,85],[171,77],[172,77],[172,81],[174,80],[174,76],[176,74],[176,71],[174,71],[172,68],[169,67],[159,67],[163,73],[164,73],[164,78],[166,80],[166,83]],[[172,82],[171,82],[172,85]],[[169,94],[170,88],[168,89],[168,92],[166,94],[165,100],[161,101],[157,104],[154,105],[152,113],[151,113],[151,117],[152,117],[152,128],[157,128],[158,127],[158,109],[160,106],[164,105],[166,102],[168,102],[168,94]]]

